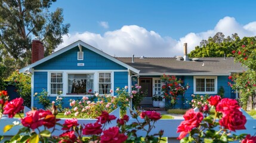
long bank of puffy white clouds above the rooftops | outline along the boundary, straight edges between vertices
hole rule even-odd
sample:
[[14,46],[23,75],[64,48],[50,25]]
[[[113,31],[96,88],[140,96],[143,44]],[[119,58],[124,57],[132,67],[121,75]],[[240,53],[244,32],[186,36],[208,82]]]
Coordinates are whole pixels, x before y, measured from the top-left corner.
[[202,39],[208,39],[209,36],[214,36],[217,32],[223,32],[226,36],[238,33],[240,38],[255,36],[256,21],[243,26],[233,17],[224,17],[218,21],[214,29],[201,33],[188,33],[178,41],[171,37],[162,37],[158,33],[143,27],[130,25],[123,26],[118,30],[108,31],[104,35],[91,32],[69,34],[64,36],[64,42],[57,49],[81,40],[117,57],[131,57],[132,54],[135,54],[135,57],[141,55],[145,57],[174,57],[174,55],[183,55],[183,43],[187,43],[188,52],[190,52],[195,46],[199,45]]

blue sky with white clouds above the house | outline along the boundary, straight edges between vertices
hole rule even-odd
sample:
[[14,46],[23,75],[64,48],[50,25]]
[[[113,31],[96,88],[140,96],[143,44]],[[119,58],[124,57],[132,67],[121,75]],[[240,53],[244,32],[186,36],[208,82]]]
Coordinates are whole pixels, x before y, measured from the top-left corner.
[[192,51],[216,32],[255,36],[255,4],[249,0],[58,0],[50,10],[63,8],[64,22],[71,24],[58,49],[80,39],[118,57],[173,57],[182,55],[184,42]]

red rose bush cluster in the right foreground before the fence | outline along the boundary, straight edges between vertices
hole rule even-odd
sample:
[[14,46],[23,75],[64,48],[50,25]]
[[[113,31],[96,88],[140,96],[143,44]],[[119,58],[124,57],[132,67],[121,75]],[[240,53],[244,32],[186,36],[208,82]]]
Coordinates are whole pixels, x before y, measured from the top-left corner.
[[[232,134],[236,130],[246,129],[246,117],[239,110],[236,100],[215,95],[209,97],[207,101],[209,107],[215,109],[215,116],[209,116],[207,104],[201,107],[202,110],[199,112],[192,109],[187,111],[183,116],[184,121],[177,129],[177,132],[180,132],[178,139],[181,139],[181,142],[229,142],[245,138],[246,134]],[[186,137],[187,134],[189,136]],[[242,142],[254,141],[254,137],[246,136]]]

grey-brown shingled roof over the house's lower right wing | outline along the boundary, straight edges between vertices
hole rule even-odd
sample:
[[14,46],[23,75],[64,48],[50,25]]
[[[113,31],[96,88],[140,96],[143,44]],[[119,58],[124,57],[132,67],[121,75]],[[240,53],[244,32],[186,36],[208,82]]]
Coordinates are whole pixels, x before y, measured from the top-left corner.
[[240,63],[234,63],[234,58],[224,60],[218,58],[199,58],[199,61],[177,61],[176,58],[116,58],[129,66],[140,70],[140,75],[205,75],[225,76],[230,73],[239,73],[246,69]]

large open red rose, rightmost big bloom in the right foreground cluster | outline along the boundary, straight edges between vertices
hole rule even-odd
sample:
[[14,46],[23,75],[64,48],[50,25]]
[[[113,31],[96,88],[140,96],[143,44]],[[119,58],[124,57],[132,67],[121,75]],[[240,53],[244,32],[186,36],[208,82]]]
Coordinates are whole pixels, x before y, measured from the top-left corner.
[[220,120],[220,125],[225,129],[236,131],[245,128],[246,117],[243,113],[237,109],[229,109],[223,113],[223,117]]

